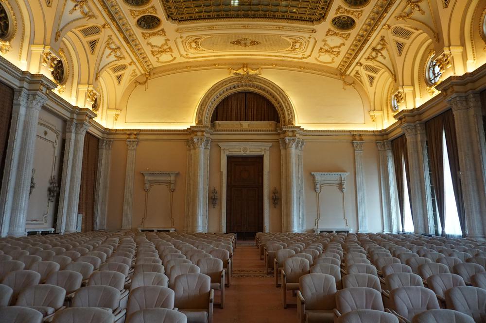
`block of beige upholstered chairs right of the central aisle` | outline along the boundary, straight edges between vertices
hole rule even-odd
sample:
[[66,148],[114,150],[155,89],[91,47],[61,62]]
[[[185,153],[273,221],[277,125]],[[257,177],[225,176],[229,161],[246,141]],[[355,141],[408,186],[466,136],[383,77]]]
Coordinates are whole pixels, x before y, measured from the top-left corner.
[[[371,307],[368,309],[384,313],[387,308],[402,322],[411,322],[415,314],[441,307],[458,309],[476,322],[486,320],[486,245],[482,242],[420,235],[274,233],[257,235],[257,243],[267,271],[273,267],[277,286],[281,276],[284,307],[287,291],[297,292],[300,322],[312,322],[313,317],[320,317],[323,322],[337,321],[341,317],[337,313],[342,314],[343,310],[339,304],[349,302],[355,304],[353,310]],[[326,283],[321,281],[311,288],[312,279],[303,278],[307,275],[329,277]],[[331,280],[335,291],[329,287],[333,285]],[[475,286],[466,286],[473,283]],[[305,306],[301,305],[309,303],[302,293],[306,288],[313,289],[307,294],[312,295],[308,297],[313,305],[319,304],[319,309],[302,311]],[[365,294],[369,296],[364,297]],[[358,300],[356,295],[361,295]],[[424,302],[400,303],[402,298],[415,301],[423,295],[432,295],[433,301],[427,305],[430,308],[424,307]],[[338,299],[345,301],[340,303]],[[370,299],[376,299],[375,306],[370,305],[373,302],[366,303]],[[472,303],[478,300],[479,305],[465,308],[454,299]],[[349,311],[347,308],[345,313]]]

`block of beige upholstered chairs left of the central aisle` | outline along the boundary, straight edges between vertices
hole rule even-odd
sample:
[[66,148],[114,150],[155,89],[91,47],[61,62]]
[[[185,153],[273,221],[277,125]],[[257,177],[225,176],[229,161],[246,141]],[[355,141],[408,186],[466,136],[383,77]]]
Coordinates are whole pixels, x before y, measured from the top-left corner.
[[[174,242],[174,244],[171,242]],[[58,316],[56,313],[64,312],[71,308],[85,307],[84,305],[88,305],[90,308],[104,307],[111,308],[114,322],[123,322],[125,317],[128,319],[128,316],[126,315],[127,313],[129,313],[130,316],[133,316],[139,311],[151,309],[151,307],[162,308],[163,306],[160,306],[160,302],[157,303],[156,301],[158,298],[154,296],[163,295],[165,292],[174,294],[173,302],[175,303],[177,303],[177,299],[185,300],[183,301],[183,303],[185,303],[182,305],[179,304],[177,308],[180,312],[187,309],[186,312],[189,313],[189,322],[199,322],[201,315],[200,311],[193,310],[193,308],[187,308],[187,306],[193,307],[194,304],[197,305],[197,301],[193,302],[191,297],[187,297],[188,294],[194,293],[197,289],[195,294],[199,297],[200,304],[202,299],[201,295],[206,294],[203,298],[207,299],[208,306],[206,307],[207,310],[204,315],[207,316],[206,321],[210,322],[212,315],[209,315],[208,312],[211,312],[212,314],[212,277],[202,274],[200,269],[203,268],[203,272],[207,272],[208,270],[211,271],[212,268],[215,267],[214,264],[223,267],[223,261],[213,257],[213,255],[211,255],[211,251],[213,250],[209,250],[209,253],[207,254],[209,257],[195,257],[196,263],[201,266],[196,267],[196,265],[192,264],[191,260],[189,260],[190,257],[186,258],[186,256],[189,255],[183,254],[181,250],[179,250],[185,250],[185,246],[191,245],[189,242],[195,244],[199,243],[202,247],[211,247],[215,250],[222,247],[221,249],[225,254],[229,254],[229,251],[226,249],[232,251],[235,241],[234,236],[231,235],[135,234],[131,231],[97,231],[87,234],[71,234],[66,236],[35,236],[22,237],[20,239],[1,239],[0,250],[2,256],[5,255],[6,259],[0,260],[0,274],[5,273],[2,282],[5,281],[6,284],[0,285],[0,288],[5,290],[5,293],[2,293],[2,295],[9,295],[9,290],[11,290],[10,296],[5,296],[2,299],[2,305],[5,305],[6,303],[35,308],[39,303],[42,303],[40,306],[45,306],[46,308],[50,307],[48,309],[44,308],[46,311],[41,314],[44,321],[49,321],[53,317]],[[27,260],[25,259],[25,256],[40,257],[37,255],[25,254],[23,252],[15,252],[15,250],[25,250],[29,248],[27,244],[31,247],[39,247],[40,245],[39,248],[42,250],[30,249],[31,252],[36,254],[48,250],[53,251],[54,254],[56,252],[60,254],[52,255],[52,253],[43,253],[43,256],[52,258],[50,258],[50,260],[44,260],[42,257],[42,259],[31,258],[33,259],[32,262],[25,263],[21,261]],[[175,248],[175,245],[177,245],[179,249]],[[11,248],[12,246],[14,248]],[[18,249],[17,247],[22,249]],[[51,250],[53,248],[58,249]],[[107,250],[102,251],[100,250],[101,248],[106,248]],[[192,250],[197,248],[191,245],[191,248],[188,248],[186,253],[190,253],[189,249]],[[174,252],[174,250],[177,250],[178,252]],[[28,250],[25,251],[29,252]],[[177,254],[179,256],[160,258],[164,251],[167,251],[164,256],[171,254]],[[100,254],[93,254],[93,252],[99,252]],[[103,253],[103,255],[101,253]],[[213,254],[216,255],[218,253]],[[69,261],[66,260],[63,264],[53,261],[65,260],[64,258],[54,258],[56,256],[67,257],[69,258]],[[229,258],[229,255],[227,258]],[[179,260],[185,260],[185,262],[191,262],[191,264],[178,263]],[[165,266],[162,265],[162,261],[164,261],[163,264]],[[170,263],[171,261],[172,263]],[[196,267],[197,272],[192,273],[191,271],[185,271],[184,269],[180,270],[180,268],[184,267]],[[28,268],[29,270],[25,270],[24,268]],[[169,277],[172,278],[172,290],[168,288],[171,282],[169,281],[169,277],[165,275],[165,268],[168,268],[169,272],[172,272],[172,275],[169,275]],[[41,273],[38,273],[35,270]],[[230,267],[226,270],[230,273]],[[186,274],[185,272],[188,273]],[[180,275],[176,275],[177,273]],[[222,277],[223,280],[221,280]],[[177,293],[178,280],[184,280],[184,283],[179,284],[183,285],[179,290],[179,294]],[[217,278],[214,277],[214,280],[217,280],[218,285],[220,286],[219,289],[222,290],[221,306],[223,307],[225,285],[223,268],[217,271]],[[9,287],[9,285],[13,288]],[[61,285],[62,287],[58,285]],[[221,288],[221,286],[223,286],[223,288]],[[188,290],[188,288],[191,290]],[[42,293],[44,293],[44,295],[49,295],[49,297],[38,296]],[[49,301],[47,300],[48,298]],[[148,307],[146,304],[140,306],[139,303],[141,299],[154,299],[155,303],[148,305]],[[52,307],[47,306],[46,303],[52,305]],[[59,304],[61,305],[59,306]],[[126,307],[127,304],[128,307]],[[66,308],[66,306],[69,308]],[[174,307],[174,305],[172,305],[172,307]],[[36,308],[37,311],[39,311],[39,309],[40,308]],[[39,313],[41,313],[41,311],[39,311]],[[187,313],[185,315],[186,318],[188,317]],[[145,316],[148,320],[151,316],[147,315]],[[157,317],[156,322],[160,322],[158,320],[160,316],[154,317]],[[129,321],[127,320],[127,322]]]

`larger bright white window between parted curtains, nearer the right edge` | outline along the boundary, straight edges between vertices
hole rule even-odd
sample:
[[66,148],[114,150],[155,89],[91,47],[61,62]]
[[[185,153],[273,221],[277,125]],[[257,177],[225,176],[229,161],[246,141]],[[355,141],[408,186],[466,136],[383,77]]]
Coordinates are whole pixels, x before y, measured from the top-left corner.
[[[450,235],[462,235],[461,224],[459,223],[459,214],[457,213],[457,205],[454,195],[454,188],[452,186],[451,166],[449,164],[449,156],[447,154],[446,133],[442,132],[443,154],[444,162],[444,231]],[[442,226],[443,224],[438,221]]]

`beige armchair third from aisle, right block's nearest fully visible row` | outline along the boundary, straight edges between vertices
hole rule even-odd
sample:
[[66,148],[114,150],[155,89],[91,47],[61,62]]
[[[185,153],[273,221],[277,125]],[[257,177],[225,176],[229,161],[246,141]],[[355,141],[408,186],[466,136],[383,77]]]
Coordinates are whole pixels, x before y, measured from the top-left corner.
[[411,323],[418,313],[429,309],[439,309],[433,291],[420,286],[399,287],[390,292],[391,306],[388,309],[401,323]]

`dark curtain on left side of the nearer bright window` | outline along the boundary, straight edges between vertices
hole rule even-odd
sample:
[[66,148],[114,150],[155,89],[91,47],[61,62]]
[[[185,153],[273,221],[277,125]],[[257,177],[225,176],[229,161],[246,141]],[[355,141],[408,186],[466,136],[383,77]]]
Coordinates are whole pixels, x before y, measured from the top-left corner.
[[436,116],[425,123],[427,133],[427,147],[429,158],[432,183],[434,184],[435,200],[437,201],[437,215],[439,217],[442,232],[445,235],[445,198],[444,198],[444,158],[443,158],[443,119],[442,115]]

